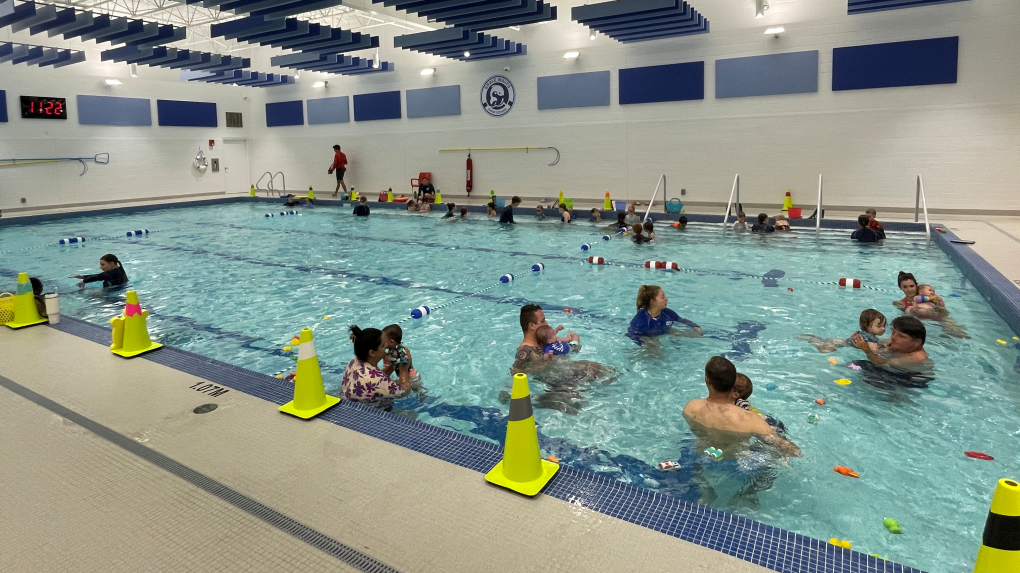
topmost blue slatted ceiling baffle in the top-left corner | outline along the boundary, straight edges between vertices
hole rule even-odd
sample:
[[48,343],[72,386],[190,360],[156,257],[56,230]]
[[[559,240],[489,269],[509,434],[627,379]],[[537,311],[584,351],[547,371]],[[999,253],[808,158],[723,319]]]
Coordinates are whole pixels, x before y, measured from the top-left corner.
[[95,40],[114,46],[159,46],[184,40],[187,35],[184,27],[57,8],[34,1],[14,6],[13,0],[0,0],[0,29],[8,25],[11,32],[28,30],[32,36],[45,32],[52,38],[62,34],[64,40],[79,38],[83,42]]

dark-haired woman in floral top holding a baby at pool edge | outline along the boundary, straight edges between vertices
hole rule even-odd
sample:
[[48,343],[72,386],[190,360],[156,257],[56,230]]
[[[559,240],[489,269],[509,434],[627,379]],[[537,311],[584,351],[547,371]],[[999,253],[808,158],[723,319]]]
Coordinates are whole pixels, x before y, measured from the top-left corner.
[[351,342],[354,343],[354,358],[348,363],[340,384],[343,398],[376,408],[390,408],[395,399],[411,392],[410,383],[405,387],[390,377],[392,372],[387,370],[392,370],[392,366],[378,368],[379,361],[386,357],[381,330],[351,326]]

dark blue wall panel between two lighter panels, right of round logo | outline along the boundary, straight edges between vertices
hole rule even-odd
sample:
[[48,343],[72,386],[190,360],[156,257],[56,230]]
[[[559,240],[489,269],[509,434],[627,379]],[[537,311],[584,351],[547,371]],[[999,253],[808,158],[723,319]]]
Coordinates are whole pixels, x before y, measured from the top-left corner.
[[620,104],[705,99],[705,62],[620,69]]

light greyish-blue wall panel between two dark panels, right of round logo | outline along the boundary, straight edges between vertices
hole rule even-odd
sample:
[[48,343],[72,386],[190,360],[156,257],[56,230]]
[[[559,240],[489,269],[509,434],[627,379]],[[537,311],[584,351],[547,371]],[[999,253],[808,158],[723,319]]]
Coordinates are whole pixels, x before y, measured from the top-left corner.
[[715,60],[715,97],[818,91],[818,50]]

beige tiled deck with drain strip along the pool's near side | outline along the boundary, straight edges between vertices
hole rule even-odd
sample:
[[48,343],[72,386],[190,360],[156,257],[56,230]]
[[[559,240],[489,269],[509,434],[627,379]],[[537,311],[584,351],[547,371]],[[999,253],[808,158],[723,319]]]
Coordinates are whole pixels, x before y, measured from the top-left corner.
[[0,571],[764,570],[56,328],[0,348]]

